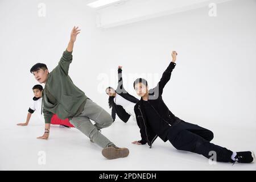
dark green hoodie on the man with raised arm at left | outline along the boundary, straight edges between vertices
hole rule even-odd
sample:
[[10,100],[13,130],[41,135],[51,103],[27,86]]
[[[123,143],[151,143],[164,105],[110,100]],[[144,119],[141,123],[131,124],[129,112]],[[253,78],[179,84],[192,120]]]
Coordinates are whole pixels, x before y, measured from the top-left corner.
[[43,113],[46,123],[51,123],[53,113],[60,119],[66,119],[79,115],[84,110],[88,97],[68,76],[71,62],[72,52],[64,51],[59,64],[48,75],[43,90]]

